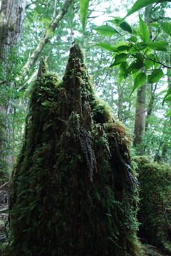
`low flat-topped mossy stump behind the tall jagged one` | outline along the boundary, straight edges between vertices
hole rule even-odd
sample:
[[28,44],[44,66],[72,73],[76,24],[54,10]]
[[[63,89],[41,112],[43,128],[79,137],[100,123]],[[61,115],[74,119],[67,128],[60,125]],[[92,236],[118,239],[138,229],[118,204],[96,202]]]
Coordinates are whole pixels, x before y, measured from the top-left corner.
[[140,237],[171,255],[171,168],[135,157],[140,182]]

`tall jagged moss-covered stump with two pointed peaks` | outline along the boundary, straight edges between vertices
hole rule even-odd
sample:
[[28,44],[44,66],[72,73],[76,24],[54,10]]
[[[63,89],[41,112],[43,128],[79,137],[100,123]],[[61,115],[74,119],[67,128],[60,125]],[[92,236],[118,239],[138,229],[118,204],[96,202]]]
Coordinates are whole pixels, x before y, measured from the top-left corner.
[[95,98],[79,45],[42,61],[12,176],[10,256],[140,256],[130,135]]

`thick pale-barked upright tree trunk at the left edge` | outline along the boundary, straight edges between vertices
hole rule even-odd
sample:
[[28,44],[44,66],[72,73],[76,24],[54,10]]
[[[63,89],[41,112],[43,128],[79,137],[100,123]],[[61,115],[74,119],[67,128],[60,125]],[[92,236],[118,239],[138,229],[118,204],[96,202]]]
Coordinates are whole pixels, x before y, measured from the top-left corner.
[[14,113],[14,69],[21,40],[26,0],[0,4],[0,160],[1,173],[11,169]]

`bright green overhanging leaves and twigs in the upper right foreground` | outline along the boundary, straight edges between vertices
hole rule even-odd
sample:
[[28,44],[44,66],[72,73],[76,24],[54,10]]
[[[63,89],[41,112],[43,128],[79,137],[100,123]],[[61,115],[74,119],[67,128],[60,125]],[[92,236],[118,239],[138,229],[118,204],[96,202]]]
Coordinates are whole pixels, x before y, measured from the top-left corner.
[[[88,4],[90,0],[80,0],[81,6],[81,23],[83,29],[86,27],[86,18],[88,16]],[[124,18],[120,17],[113,17],[113,20],[108,22],[115,25],[122,29],[123,31],[128,32],[131,34],[130,38],[127,39],[128,43],[120,42],[117,43],[115,46],[111,46],[108,43],[96,43],[94,46],[100,46],[107,51],[113,53],[113,63],[111,63],[110,68],[114,66],[118,66],[119,74],[120,74],[120,83],[123,78],[127,78],[128,75],[133,76],[133,90],[132,93],[140,86],[142,86],[146,81],[147,83],[157,83],[165,74],[163,73],[161,68],[157,68],[161,65],[163,68],[171,69],[170,66],[167,66],[165,63],[162,63],[157,56],[152,54],[152,51],[165,51],[167,52],[167,46],[169,44],[166,41],[151,41],[150,40],[150,29],[149,26],[142,21],[139,15],[139,22],[140,26],[138,31],[135,31],[125,18],[130,16],[131,14],[135,13],[142,9],[143,7],[149,6],[150,4],[160,4],[162,2],[171,2],[171,0],[137,0],[133,7],[128,11],[128,14]],[[107,22],[107,21],[106,21]],[[158,29],[157,36],[159,35],[159,29],[162,29],[167,35],[171,36],[171,24],[169,22],[163,22],[162,24],[158,24],[157,22],[153,22],[150,24]],[[98,34],[103,36],[113,36],[115,34],[122,34],[115,29],[115,27],[105,24],[102,26],[96,27],[94,30],[98,32]],[[155,39],[157,39],[157,36]],[[168,52],[167,52],[168,53]],[[168,53],[169,54],[169,53]],[[130,58],[134,58],[132,63],[129,63],[128,60]],[[154,68],[152,68],[152,66]],[[150,69],[152,68],[152,69]],[[145,71],[151,71],[150,75],[146,76]],[[171,88],[169,87],[167,93],[164,97],[163,103],[165,101],[171,101]],[[171,116],[171,109],[167,113],[167,116]]]

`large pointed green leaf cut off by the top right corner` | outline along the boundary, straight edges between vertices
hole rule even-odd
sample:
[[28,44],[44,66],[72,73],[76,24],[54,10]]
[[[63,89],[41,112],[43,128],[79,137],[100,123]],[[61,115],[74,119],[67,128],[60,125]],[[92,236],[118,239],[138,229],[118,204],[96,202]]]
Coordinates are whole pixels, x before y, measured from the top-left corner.
[[137,1],[135,1],[135,4],[130,9],[130,11],[128,11],[128,14],[121,21],[123,21],[126,17],[130,16],[131,14],[135,13],[135,11],[138,11],[143,7],[146,7],[150,4],[162,3],[162,2],[165,2],[165,1],[171,2],[171,0],[137,0]]

